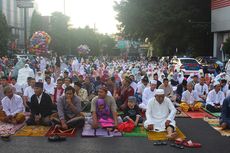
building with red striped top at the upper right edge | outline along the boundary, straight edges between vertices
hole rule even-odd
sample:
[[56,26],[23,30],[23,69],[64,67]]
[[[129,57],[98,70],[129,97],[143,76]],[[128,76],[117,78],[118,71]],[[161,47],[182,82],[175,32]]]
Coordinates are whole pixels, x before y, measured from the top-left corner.
[[211,29],[214,33],[213,56],[227,60],[223,43],[230,37],[230,0],[212,0]]

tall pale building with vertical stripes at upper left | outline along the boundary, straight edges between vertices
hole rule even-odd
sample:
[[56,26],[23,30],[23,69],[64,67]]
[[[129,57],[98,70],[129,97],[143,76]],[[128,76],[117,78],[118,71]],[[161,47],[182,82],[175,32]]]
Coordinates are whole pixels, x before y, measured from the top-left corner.
[[[27,36],[30,35],[30,22],[34,9],[27,9]],[[24,10],[18,8],[16,0],[0,0],[0,11],[5,15],[12,32],[12,40],[17,48],[24,48]]]

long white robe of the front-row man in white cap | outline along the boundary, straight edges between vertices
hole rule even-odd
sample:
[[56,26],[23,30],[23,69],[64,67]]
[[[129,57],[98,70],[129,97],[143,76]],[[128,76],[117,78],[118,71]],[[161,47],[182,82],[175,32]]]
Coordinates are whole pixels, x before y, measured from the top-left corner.
[[175,122],[176,108],[171,100],[165,97],[162,104],[153,98],[148,102],[146,110],[146,121],[144,127],[147,129],[148,125],[154,125],[154,131],[165,131],[165,122],[170,120],[170,125],[176,127]]

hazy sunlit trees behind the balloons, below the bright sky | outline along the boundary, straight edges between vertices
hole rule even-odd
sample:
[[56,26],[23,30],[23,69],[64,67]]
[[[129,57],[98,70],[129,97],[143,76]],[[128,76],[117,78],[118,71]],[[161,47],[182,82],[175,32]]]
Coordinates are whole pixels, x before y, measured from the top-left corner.
[[[38,16],[37,16],[38,15]],[[60,12],[55,12],[50,17],[50,23],[41,22],[41,15],[34,14],[31,30],[33,32],[44,30],[51,36],[50,49],[63,54],[77,54],[77,47],[86,44],[91,49],[92,55],[99,55],[101,51],[112,50],[115,45],[113,38],[99,34],[94,29],[86,26],[85,28],[72,28],[70,18]]]

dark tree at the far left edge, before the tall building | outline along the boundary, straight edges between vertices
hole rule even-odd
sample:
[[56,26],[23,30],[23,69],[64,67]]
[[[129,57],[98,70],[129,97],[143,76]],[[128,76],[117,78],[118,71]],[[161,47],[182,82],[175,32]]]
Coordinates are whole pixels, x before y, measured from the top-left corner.
[[0,12],[0,55],[7,53],[7,44],[10,39],[10,29],[5,16]]

